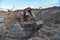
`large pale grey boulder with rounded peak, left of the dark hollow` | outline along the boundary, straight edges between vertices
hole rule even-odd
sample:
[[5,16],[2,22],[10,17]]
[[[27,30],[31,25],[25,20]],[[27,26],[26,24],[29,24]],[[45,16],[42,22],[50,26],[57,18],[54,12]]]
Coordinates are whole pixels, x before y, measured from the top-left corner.
[[8,37],[19,38],[21,36],[21,26],[16,23],[8,31]]

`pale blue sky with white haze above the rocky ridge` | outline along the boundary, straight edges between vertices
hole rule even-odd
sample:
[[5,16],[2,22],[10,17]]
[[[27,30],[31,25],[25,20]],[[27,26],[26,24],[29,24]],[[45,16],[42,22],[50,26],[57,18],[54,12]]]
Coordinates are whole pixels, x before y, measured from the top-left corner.
[[48,8],[52,6],[60,6],[60,0],[0,0],[0,8],[5,9],[24,9],[31,8]]

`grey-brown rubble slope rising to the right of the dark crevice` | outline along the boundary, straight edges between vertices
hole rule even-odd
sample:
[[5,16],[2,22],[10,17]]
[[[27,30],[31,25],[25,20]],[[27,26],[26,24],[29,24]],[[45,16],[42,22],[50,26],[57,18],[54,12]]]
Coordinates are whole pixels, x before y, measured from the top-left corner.
[[35,37],[38,37],[36,40],[60,40],[60,8],[47,9],[47,12],[45,10],[43,13],[45,14],[40,14],[42,18],[39,19],[43,20],[43,27],[30,40],[34,40]]

